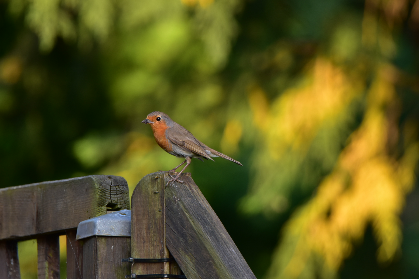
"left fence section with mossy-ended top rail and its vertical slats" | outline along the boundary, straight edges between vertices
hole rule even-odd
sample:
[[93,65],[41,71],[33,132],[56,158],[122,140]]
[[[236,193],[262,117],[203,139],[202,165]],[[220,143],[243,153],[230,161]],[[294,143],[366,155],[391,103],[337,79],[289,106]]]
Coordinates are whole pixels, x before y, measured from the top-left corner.
[[38,279],[59,278],[58,239],[64,234],[67,278],[82,278],[83,263],[91,257],[82,260],[89,251],[75,241],[78,224],[120,209],[130,209],[128,184],[111,175],[0,189],[0,279],[20,278],[17,241],[33,238],[38,245]]

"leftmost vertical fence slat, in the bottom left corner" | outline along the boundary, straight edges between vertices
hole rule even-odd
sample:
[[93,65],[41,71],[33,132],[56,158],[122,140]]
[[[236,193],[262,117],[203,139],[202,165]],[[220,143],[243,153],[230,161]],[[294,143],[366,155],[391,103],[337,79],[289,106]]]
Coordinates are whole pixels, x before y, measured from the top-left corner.
[[0,278],[21,278],[17,241],[0,241]]

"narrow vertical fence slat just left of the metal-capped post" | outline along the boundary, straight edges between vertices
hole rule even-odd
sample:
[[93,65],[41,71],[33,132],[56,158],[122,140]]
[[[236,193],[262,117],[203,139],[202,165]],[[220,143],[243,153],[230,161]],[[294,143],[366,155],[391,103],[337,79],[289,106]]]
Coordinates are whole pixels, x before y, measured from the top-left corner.
[[67,279],[83,278],[83,241],[76,241],[77,230],[67,230]]

